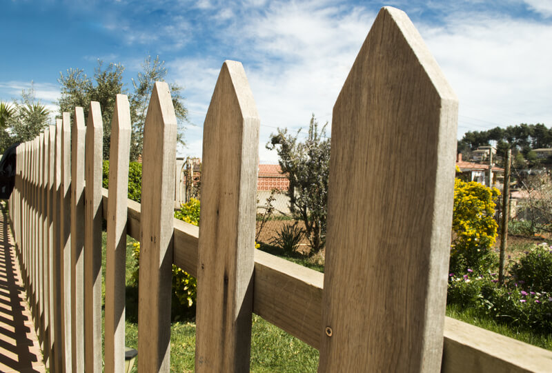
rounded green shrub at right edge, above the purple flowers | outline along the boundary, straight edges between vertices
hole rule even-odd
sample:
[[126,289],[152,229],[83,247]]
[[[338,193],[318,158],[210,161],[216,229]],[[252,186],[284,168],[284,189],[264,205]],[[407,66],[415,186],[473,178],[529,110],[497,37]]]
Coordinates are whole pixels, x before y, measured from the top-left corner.
[[552,293],[552,250],[546,243],[534,246],[510,267],[513,281],[533,292]]

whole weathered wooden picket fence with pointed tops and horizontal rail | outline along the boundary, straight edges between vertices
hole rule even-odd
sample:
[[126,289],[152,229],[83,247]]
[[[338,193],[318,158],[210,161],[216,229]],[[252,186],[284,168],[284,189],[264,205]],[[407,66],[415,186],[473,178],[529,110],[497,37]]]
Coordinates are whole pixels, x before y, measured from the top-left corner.
[[86,127],[82,108],[70,120],[17,148],[10,198],[51,372],[100,372],[102,360],[123,372],[126,234],[141,242],[140,372],[170,368],[172,263],[198,279],[197,372],[248,372],[253,312],[317,348],[319,372],[551,369],[551,352],[444,317],[457,99],[404,12],[380,11],[335,103],[325,275],[253,247],[259,117],[241,63],[223,64],[206,116],[201,230],[172,217],[166,83],[146,117],[141,205],[127,199],[128,99],[113,114],[109,191],[99,104]]

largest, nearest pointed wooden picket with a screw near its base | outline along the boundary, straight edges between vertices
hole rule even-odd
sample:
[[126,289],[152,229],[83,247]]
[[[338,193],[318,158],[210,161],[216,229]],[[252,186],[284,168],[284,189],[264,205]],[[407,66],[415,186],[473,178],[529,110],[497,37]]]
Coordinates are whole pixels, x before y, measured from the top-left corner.
[[333,109],[319,372],[438,372],[457,98],[382,8]]

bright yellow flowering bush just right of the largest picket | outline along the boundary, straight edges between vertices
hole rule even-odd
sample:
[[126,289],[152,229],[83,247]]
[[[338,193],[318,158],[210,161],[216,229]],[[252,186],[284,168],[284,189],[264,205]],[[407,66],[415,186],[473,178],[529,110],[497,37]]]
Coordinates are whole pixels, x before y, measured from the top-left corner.
[[468,268],[481,272],[495,263],[490,249],[497,236],[493,216],[498,196],[496,188],[455,179],[451,272],[464,273]]

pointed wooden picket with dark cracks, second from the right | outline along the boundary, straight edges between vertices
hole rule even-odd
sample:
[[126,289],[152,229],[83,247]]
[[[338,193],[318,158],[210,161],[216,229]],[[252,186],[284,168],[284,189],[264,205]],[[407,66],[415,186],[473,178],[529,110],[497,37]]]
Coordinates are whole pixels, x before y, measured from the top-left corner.
[[225,61],[204,124],[196,372],[249,372],[259,123],[242,63]]

